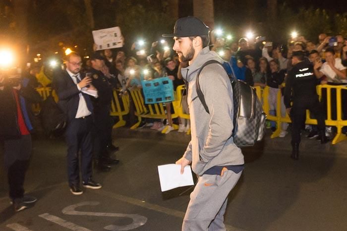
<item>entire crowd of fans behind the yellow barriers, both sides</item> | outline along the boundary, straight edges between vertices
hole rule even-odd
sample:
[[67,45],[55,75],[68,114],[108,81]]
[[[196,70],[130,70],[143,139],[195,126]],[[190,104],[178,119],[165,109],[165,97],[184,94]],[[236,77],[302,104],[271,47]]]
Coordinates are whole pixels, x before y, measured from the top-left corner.
[[[305,61],[312,63],[315,75],[323,76],[317,80],[317,84],[347,84],[347,39],[341,35],[331,37],[322,33],[318,36],[317,44],[306,40],[303,36],[289,39],[288,44],[279,44],[275,41],[268,41],[265,37],[240,38],[238,41],[231,41],[226,38],[218,38],[214,35],[214,31],[211,32],[211,35],[210,49],[216,51],[225,60],[224,66],[230,76],[251,86],[269,87],[270,115],[276,115],[278,92],[284,93],[286,75],[292,67],[291,54],[293,51],[304,51],[306,53]],[[175,90],[177,86],[184,84],[179,69],[180,66],[184,67],[187,63],[179,63],[178,56],[173,53],[171,43],[172,41],[162,39],[153,43],[136,41],[128,51],[123,48],[99,51],[105,57],[105,66],[102,71],[116,78],[117,88],[121,89],[120,95],[128,94],[128,90],[132,88],[142,88],[142,80],[163,76],[168,76],[173,80]],[[90,67],[91,62],[86,58],[83,72],[88,72]],[[33,86],[49,86],[47,84],[49,81],[46,80],[44,73],[44,69],[40,69],[38,66],[30,68]],[[182,107],[183,111],[188,114],[184,97]],[[325,107],[325,112],[327,112],[326,97],[327,93],[323,91],[321,102]],[[332,119],[337,119],[336,101],[336,91],[333,89],[331,92]],[[189,130],[189,119],[178,118],[177,121],[172,121],[173,107],[170,103],[164,105],[168,115],[167,119],[146,119],[139,128],[150,126],[151,129],[161,131],[168,126],[167,133],[169,133],[173,130],[172,124],[178,123],[178,132]],[[286,116],[283,97],[281,105],[280,113],[282,116]],[[342,105],[347,105],[347,90],[342,91]],[[134,113],[133,107],[130,113]],[[343,120],[346,120],[347,107],[342,107],[342,115]],[[286,136],[288,126],[288,123],[282,123],[280,137]],[[277,124],[269,121],[267,127],[276,130]],[[308,129],[310,130],[309,138],[317,136],[315,126],[309,126]],[[328,127],[327,133],[332,135],[331,133],[336,132],[334,129],[334,127]],[[347,132],[346,127],[343,132]]]

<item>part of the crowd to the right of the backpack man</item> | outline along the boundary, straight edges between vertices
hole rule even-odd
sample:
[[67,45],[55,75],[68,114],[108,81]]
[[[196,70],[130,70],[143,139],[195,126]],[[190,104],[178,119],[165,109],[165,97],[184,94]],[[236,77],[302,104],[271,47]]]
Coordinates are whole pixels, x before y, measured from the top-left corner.
[[[231,66],[232,75],[249,85],[269,86],[270,115],[276,115],[277,94],[282,91],[281,114],[286,116],[283,102],[284,84],[287,72],[292,68],[291,55],[294,51],[304,51],[305,62],[314,66],[315,75],[322,77],[318,84],[347,85],[347,39],[342,35],[336,37],[322,33],[318,36],[318,43],[306,40],[303,36],[291,38],[288,44],[278,44],[266,41],[264,37],[257,37],[250,42],[247,38],[240,38],[237,42],[226,44],[227,40],[216,39],[212,47]],[[336,90],[331,90],[331,119],[337,119]],[[347,119],[347,90],[342,90],[342,119]],[[327,92],[322,91],[321,104],[327,114]],[[326,115],[327,117],[327,115]],[[276,129],[275,122],[269,122],[268,127]],[[287,123],[282,123],[280,137],[286,136]],[[309,138],[317,137],[315,126],[308,126]],[[327,128],[327,135],[336,132],[335,127]],[[347,133],[347,127],[343,128]]]

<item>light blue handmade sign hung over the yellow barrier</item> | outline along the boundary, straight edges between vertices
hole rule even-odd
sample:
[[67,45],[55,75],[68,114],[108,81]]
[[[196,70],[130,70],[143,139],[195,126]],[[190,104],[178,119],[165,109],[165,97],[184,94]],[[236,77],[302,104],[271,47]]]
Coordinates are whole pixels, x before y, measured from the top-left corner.
[[174,101],[173,81],[169,77],[141,81],[145,104]]

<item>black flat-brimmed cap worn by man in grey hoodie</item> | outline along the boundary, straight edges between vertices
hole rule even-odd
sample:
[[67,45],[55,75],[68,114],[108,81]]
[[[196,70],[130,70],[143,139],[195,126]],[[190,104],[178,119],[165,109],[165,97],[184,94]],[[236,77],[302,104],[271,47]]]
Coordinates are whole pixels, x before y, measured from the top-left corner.
[[190,37],[208,35],[210,28],[194,16],[179,18],[173,27],[173,34],[163,34],[163,37]]

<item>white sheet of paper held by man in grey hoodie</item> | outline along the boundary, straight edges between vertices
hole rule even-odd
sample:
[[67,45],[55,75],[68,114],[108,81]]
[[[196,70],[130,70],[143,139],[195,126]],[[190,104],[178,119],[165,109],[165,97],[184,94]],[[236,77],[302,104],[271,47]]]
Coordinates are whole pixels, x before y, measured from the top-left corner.
[[183,174],[181,174],[180,171],[180,165],[170,164],[158,166],[160,187],[162,192],[173,188],[194,184],[193,175],[191,174],[189,165],[184,167]]

